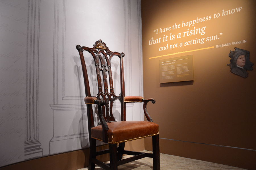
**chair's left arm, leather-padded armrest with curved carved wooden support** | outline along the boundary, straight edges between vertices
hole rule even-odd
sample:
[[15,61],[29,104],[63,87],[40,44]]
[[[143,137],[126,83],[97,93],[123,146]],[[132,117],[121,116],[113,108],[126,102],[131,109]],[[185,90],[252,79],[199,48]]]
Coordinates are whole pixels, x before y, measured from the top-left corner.
[[102,106],[105,105],[105,101],[103,99],[98,100],[96,97],[84,97],[84,102],[87,105],[92,105],[92,104],[98,105],[98,115],[99,115],[100,123],[102,126],[102,139],[103,139],[103,142],[108,143],[108,124],[102,114]]

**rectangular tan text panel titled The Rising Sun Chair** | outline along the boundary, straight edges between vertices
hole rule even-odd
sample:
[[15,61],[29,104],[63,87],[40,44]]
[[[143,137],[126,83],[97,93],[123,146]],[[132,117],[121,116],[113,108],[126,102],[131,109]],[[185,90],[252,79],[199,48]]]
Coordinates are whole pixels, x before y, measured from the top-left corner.
[[192,55],[159,60],[160,83],[194,80]]

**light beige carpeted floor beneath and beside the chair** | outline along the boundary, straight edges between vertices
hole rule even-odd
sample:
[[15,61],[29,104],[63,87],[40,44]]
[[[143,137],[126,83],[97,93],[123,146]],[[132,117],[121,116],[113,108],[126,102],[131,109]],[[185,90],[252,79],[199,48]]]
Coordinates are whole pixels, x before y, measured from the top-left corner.
[[[143,151],[149,152],[149,151]],[[123,158],[128,158],[124,156]],[[152,170],[153,163],[152,158],[143,158],[137,161],[126,163],[118,166],[118,170]],[[88,170],[88,168],[82,168],[79,170]],[[95,170],[103,170],[102,168],[95,166]],[[218,163],[211,163],[206,161],[194,160],[189,158],[183,158],[179,156],[160,154],[160,170],[245,170],[242,168],[231,167],[228,165],[222,165]]]

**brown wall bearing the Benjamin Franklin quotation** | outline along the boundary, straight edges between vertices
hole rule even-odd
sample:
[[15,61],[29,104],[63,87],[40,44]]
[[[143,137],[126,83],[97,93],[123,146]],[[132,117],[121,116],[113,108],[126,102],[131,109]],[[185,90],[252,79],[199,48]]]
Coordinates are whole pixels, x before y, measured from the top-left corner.
[[[141,7],[144,97],[156,99],[155,104],[148,105],[148,111],[154,122],[160,124],[160,145],[166,146],[161,147],[161,152],[255,169],[255,2],[142,0]],[[242,7],[240,12],[232,11],[238,7]],[[234,13],[222,16],[222,10]],[[214,18],[217,13],[220,16]],[[182,21],[206,16],[211,16],[211,20],[182,27]],[[175,23],[181,24],[180,28],[172,29]],[[159,33],[160,27],[169,26],[170,30]],[[204,35],[185,34],[183,37],[187,29],[205,26]],[[154,31],[156,29],[158,34]],[[168,41],[163,42],[163,37],[170,33],[175,35],[175,39],[168,37]],[[181,33],[181,38],[177,37],[178,33]],[[206,41],[207,37],[214,35],[219,39]],[[162,38],[160,43],[149,45],[149,40],[159,37]],[[204,43],[184,46],[185,42],[195,38],[205,38]],[[246,42],[232,45],[232,42],[241,40]],[[170,49],[171,44],[179,45],[181,42],[183,46]],[[228,46],[216,47],[229,42]],[[159,50],[167,44],[168,49]],[[211,48],[191,51],[207,47]],[[234,75],[226,66],[230,63],[228,54],[234,47],[250,51],[254,70],[247,71],[247,78]],[[191,52],[179,53],[184,51]],[[168,54],[173,55],[162,56]],[[160,84],[159,60],[186,55],[193,55],[194,81]],[[162,57],[149,59],[156,56]],[[149,141],[145,140],[146,149],[150,149]],[[227,152],[237,154],[234,156]]]

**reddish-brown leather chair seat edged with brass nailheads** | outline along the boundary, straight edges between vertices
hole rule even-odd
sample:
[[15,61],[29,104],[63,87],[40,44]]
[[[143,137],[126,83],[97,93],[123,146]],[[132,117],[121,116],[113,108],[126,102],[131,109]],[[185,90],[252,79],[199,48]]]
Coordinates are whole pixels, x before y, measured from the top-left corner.
[[[108,123],[108,143],[121,143],[159,134],[159,125],[147,121]],[[102,141],[102,126],[91,128],[92,138]]]

